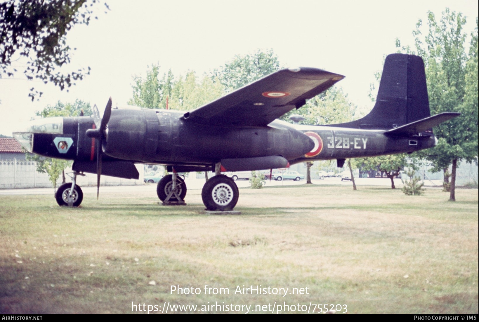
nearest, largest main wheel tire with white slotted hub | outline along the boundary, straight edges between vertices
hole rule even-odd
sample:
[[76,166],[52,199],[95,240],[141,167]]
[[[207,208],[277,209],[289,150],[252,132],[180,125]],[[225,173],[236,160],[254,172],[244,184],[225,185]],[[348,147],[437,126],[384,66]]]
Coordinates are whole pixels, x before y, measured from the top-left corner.
[[239,190],[232,178],[218,175],[203,186],[201,198],[207,210],[230,211],[238,202]]

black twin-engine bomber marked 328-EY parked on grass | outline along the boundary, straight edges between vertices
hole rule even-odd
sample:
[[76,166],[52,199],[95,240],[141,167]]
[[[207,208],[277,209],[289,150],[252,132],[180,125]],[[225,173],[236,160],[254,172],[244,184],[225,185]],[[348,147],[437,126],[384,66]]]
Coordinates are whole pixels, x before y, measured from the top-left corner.
[[[158,183],[158,197],[181,203],[186,185],[176,172],[263,170],[330,159],[342,167],[345,158],[430,148],[436,142],[433,126],[459,115],[431,116],[422,58],[392,54],[376,104],[362,119],[322,126],[276,120],[342,78],[316,68],[282,69],[188,112],[112,109],[110,98],[103,118],[95,106],[93,117],[35,120],[13,135],[29,152],[74,160],[72,183],[56,193],[60,206],[80,205],[77,175],[96,173],[99,187],[102,174],[137,179],[135,163],[167,166],[172,174]],[[218,174],[201,195],[206,209],[229,211],[238,187]]]

